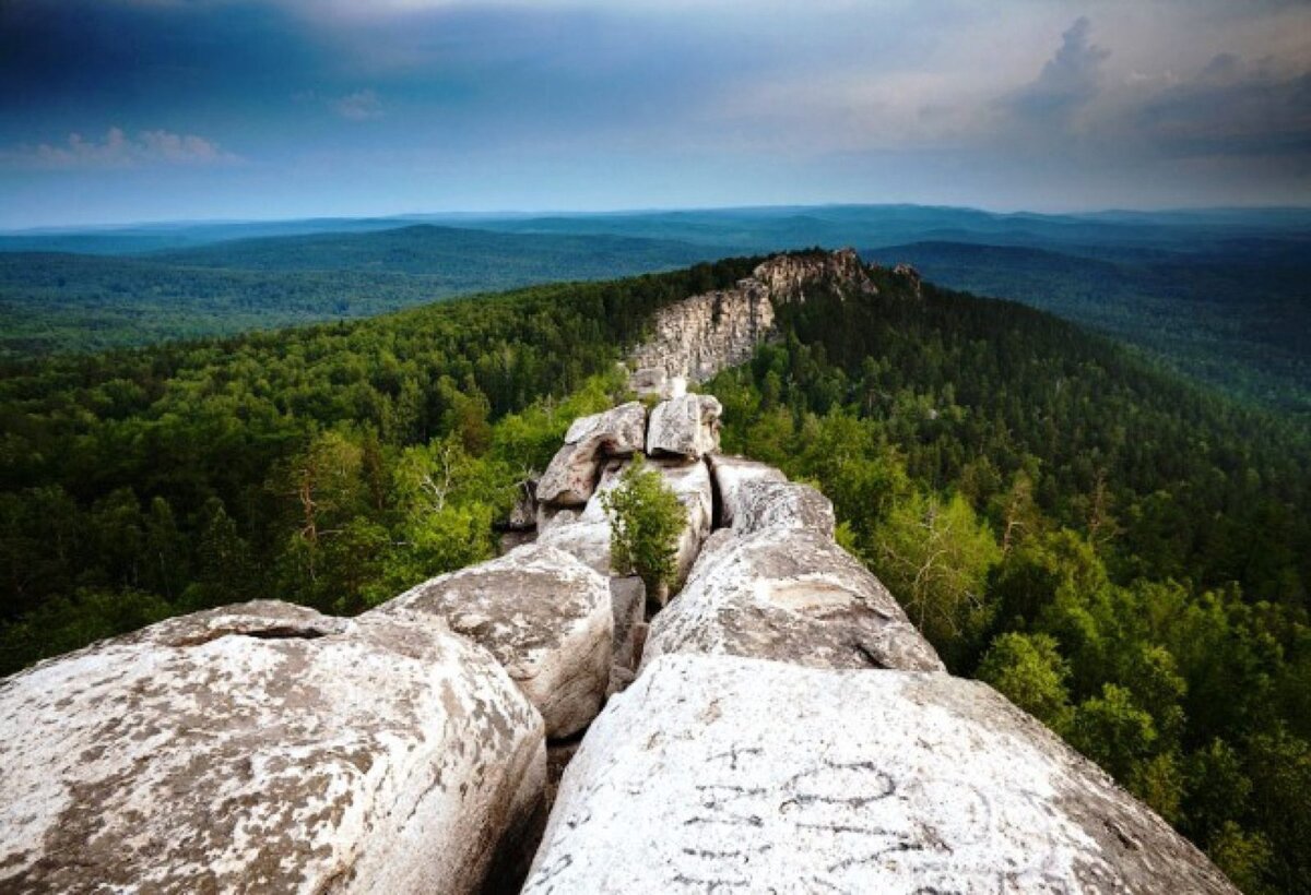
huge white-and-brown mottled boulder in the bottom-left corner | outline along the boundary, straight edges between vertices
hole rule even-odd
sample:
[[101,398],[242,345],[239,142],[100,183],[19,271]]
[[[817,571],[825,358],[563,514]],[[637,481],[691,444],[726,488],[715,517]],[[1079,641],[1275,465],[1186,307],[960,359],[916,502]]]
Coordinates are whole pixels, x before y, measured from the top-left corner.
[[248,603],[0,684],[0,890],[469,892],[545,780],[492,655]]

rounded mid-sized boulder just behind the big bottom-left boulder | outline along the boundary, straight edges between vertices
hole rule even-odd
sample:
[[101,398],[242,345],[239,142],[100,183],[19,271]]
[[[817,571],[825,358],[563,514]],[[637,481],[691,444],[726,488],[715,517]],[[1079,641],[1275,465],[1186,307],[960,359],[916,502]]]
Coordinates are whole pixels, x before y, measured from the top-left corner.
[[603,577],[544,544],[517,548],[425,582],[370,615],[437,616],[492,651],[541,712],[547,736],[569,736],[600,710],[614,613]]

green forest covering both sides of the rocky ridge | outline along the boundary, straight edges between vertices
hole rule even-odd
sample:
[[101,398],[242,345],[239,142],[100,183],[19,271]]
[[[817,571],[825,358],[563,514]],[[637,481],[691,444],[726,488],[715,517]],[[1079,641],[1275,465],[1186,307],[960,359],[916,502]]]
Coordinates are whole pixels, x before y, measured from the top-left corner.
[[[0,674],[245,599],[354,613],[492,556],[650,314],[754,265],[10,364]],[[1042,312],[873,276],[705,385],[725,449],[815,482],[952,671],[1245,891],[1307,891],[1304,430]]]

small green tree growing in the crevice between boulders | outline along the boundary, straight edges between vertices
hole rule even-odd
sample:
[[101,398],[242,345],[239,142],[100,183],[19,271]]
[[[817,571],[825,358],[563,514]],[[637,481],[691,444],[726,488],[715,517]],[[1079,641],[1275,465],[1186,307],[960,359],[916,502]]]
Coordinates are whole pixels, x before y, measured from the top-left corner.
[[678,536],[687,514],[665,480],[633,459],[619,485],[600,495],[610,516],[610,562],[615,571],[636,574],[649,595],[674,583],[678,571]]

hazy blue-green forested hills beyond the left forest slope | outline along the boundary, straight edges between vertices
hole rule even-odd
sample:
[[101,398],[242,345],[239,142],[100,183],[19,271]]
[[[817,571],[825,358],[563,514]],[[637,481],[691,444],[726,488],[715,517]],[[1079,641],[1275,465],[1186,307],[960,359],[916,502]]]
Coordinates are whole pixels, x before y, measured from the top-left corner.
[[0,360],[368,317],[452,295],[670,270],[725,254],[669,240],[430,225],[128,257],[0,252]]

